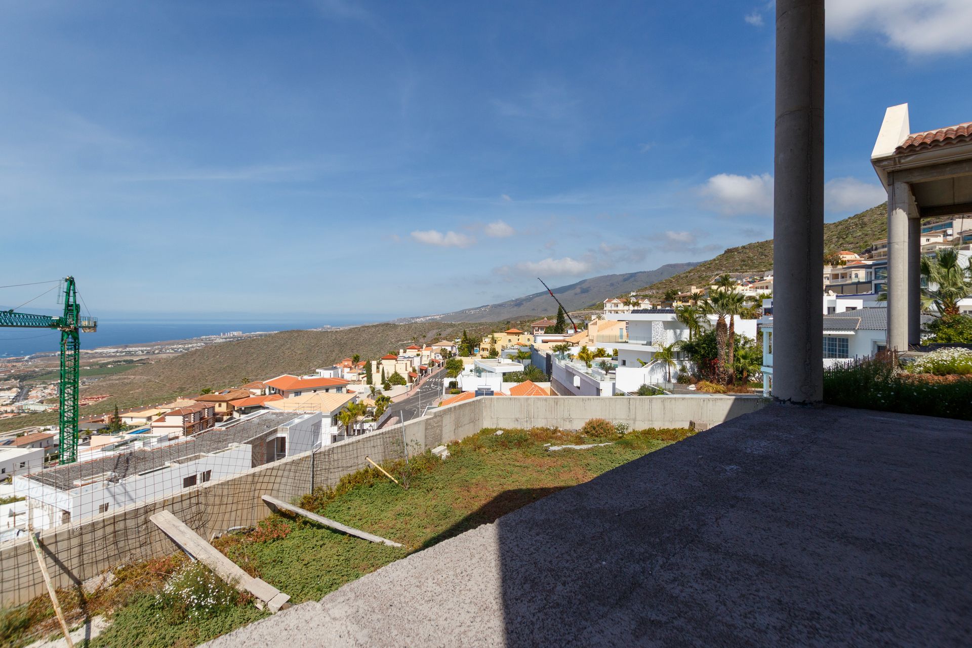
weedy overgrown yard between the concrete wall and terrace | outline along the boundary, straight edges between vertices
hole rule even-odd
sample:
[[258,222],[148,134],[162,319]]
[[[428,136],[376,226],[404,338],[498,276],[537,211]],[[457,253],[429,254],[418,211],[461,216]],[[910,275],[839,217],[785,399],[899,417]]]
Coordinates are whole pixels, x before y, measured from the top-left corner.
[[[404,548],[373,544],[290,515],[272,515],[257,529],[226,535],[214,544],[295,603],[318,599],[385,564],[694,433],[646,429],[625,434],[603,420],[588,422],[580,432],[547,427],[506,429],[502,435],[496,431],[484,429],[450,444],[452,457],[445,461],[426,452],[408,462],[386,463],[407,489],[370,468],[298,502]],[[544,444],[550,443],[611,445],[549,452]],[[117,576],[115,585],[87,598],[76,591],[61,592],[74,624],[86,615],[113,619],[93,646],[194,646],[265,616],[251,597],[239,595],[180,555],[127,565]],[[0,612],[0,648],[17,648],[30,637],[56,631],[47,597]]]

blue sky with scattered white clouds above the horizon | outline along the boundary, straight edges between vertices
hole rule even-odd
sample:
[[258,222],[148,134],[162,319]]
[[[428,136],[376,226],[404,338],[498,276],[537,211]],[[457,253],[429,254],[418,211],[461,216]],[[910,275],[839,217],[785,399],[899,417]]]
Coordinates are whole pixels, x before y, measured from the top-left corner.
[[[829,3],[828,221],[882,199],[886,106],[972,119],[970,7]],[[773,11],[0,0],[0,285],[378,319],[769,238]]]

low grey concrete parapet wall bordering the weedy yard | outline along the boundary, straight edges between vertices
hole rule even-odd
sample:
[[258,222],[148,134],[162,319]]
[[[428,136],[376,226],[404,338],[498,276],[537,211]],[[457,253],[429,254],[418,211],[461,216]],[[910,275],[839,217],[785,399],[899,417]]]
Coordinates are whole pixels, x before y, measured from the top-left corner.
[[[169,510],[191,529],[212,538],[234,527],[251,527],[269,514],[260,495],[284,500],[314,487],[332,486],[364,468],[364,457],[381,462],[463,439],[483,427],[559,426],[579,428],[604,418],[632,428],[712,426],[760,409],[765,401],[732,396],[595,397],[489,396],[432,410],[406,424],[390,426],[313,453],[274,461],[226,479],[203,484],[148,504],[64,525],[41,534],[58,588],[78,585],[122,563],[178,551],[149,518]],[[286,587],[283,588],[286,592]],[[17,605],[45,594],[29,539],[0,547],[0,603]]]

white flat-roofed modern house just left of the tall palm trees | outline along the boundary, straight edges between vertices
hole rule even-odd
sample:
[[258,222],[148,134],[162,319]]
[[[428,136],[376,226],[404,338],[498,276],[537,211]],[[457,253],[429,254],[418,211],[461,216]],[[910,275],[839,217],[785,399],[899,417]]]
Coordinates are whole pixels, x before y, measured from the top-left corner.
[[[657,362],[655,353],[681,340],[688,339],[688,326],[678,322],[675,309],[653,308],[635,311],[617,318],[627,323],[627,332],[608,336],[608,339],[595,338],[598,346],[610,346],[617,351],[616,389],[618,392],[635,392],[642,385],[657,385],[666,382],[668,369]],[[715,326],[715,316],[708,316],[709,327]],[[744,320],[734,316],[737,335],[755,339],[756,320]],[[677,352],[676,366],[672,368],[672,380],[685,368],[687,358]]]

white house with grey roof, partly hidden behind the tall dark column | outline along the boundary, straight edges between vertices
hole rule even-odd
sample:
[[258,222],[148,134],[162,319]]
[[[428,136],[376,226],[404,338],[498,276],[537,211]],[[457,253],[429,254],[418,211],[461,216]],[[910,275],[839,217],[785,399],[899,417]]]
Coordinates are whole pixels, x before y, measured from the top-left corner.
[[[928,316],[922,316],[926,321]],[[763,329],[763,393],[773,390],[773,316],[759,321]],[[823,366],[853,358],[870,358],[887,345],[887,309],[864,307],[823,316]]]

